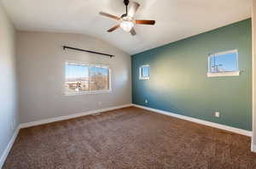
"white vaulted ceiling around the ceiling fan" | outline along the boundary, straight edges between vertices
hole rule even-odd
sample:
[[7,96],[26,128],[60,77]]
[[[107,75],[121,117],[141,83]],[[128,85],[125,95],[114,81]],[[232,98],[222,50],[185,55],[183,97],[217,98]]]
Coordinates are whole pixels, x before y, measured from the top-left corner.
[[117,23],[100,11],[120,16],[123,0],[1,0],[16,28],[23,31],[84,33],[101,38],[128,54],[210,31],[251,17],[252,0],[136,0],[136,18],[156,20],[136,25],[137,36],[107,30]]

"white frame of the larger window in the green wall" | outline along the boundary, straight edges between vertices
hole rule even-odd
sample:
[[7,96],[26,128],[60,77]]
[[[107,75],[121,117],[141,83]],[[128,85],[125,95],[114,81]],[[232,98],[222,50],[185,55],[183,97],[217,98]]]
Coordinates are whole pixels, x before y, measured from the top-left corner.
[[[216,72],[216,73],[212,73],[211,72],[211,57],[215,56],[215,57],[221,57],[221,55],[224,54],[234,54],[236,53],[236,67],[237,70],[235,71],[225,71],[225,72]],[[217,77],[217,76],[240,76],[240,70],[238,67],[238,50],[234,49],[234,50],[229,50],[229,51],[225,51],[225,52],[220,52],[220,53],[215,53],[215,54],[209,54],[208,56],[208,72],[207,72],[207,77]]]

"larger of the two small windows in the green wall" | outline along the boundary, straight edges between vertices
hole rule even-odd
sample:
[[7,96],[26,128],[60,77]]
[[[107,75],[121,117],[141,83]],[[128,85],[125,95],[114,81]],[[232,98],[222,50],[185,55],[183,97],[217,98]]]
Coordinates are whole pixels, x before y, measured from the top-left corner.
[[238,51],[210,54],[207,76],[239,76]]

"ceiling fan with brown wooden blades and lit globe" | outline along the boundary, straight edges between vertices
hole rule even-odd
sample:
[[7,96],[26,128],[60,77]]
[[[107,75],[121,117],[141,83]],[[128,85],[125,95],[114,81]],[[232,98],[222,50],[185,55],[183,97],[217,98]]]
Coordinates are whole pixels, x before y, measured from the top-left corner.
[[132,36],[135,36],[137,33],[134,30],[134,25],[154,25],[154,20],[134,20],[134,15],[137,12],[137,9],[139,8],[140,4],[133,2],[131,4],[131,8],[128,12],[128,4],[129,0],[124,0],[125,3],[125,14],[122,14],[120,17],[114,16],[112,14],[100,12],[101,15],[107,16],[108,18],[111,18],[113,20],[118,20],[119,24],[113,26],[113,28],[110,28],[108,32],[115,31],[119,27],[121,27],[124,31],[130,31]]

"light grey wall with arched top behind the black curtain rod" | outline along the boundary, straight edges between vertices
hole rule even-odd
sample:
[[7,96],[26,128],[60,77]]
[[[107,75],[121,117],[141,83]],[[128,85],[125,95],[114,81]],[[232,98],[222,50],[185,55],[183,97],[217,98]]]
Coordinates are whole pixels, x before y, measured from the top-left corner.
[[[62,45],[114,54],[115,57],[63,51]],[[110,65],[112,93],[65,96],[66,60]],[[131,104],[131,56],[94,37],[18,31],[17,68],[22,123]]]

